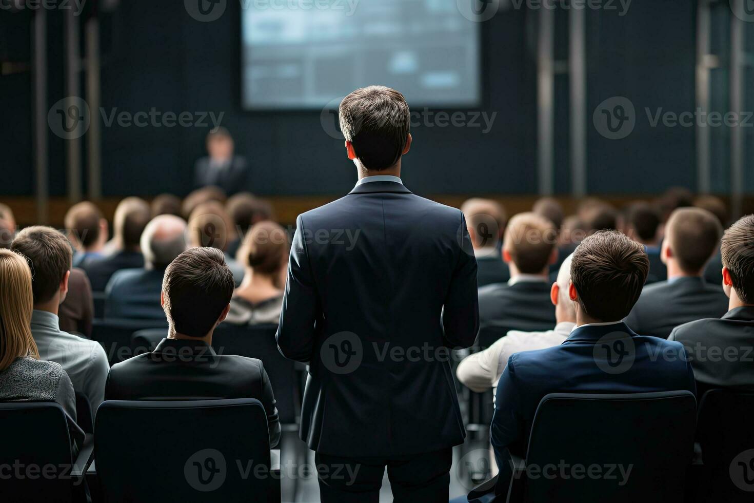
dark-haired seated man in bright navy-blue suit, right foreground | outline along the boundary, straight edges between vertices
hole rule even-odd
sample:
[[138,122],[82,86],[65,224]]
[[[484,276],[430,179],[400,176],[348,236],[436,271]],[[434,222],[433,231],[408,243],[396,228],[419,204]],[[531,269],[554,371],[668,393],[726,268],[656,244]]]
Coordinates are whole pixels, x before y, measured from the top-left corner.
[[[513,354],[498,382],[490,427],[501,470],[498,487],[507,489],[506,449],[526,455],[535,411],[548,393],[695,391],[682,345],[636,335],[621,321],[639,299],[648,269],[644,247],[620,232],[596,232],[576,248],[569,286],[575,329],[561,345]],[[615,373],[611,356],[618,349],[628,355]]]

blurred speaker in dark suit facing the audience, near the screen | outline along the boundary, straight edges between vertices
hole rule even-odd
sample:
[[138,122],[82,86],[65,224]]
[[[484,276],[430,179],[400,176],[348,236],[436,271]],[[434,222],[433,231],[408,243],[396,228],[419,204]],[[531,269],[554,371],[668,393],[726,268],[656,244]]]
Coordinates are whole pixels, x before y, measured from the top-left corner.
[[207,157],[194,165],[194,185],[218,186],[226,194],[235,194],[246,188],[248,167],[246,159],[233,153],[231,133],[225,127],[215,127],[207,134]]

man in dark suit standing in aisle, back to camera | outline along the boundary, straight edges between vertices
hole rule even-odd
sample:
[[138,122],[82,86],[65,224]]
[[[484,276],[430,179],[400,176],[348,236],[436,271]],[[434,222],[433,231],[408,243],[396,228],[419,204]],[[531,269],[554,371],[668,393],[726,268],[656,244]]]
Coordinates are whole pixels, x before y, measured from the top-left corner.
[[449,348],[477,336],[474,250],[460,210],[401,182],[402,94],[357,89],[339,118],[358,181],[296,220],[277,330],[309,363],[301,438],[322,501],[379,501],[385,466],[395,501],[448,501],[465,435]]

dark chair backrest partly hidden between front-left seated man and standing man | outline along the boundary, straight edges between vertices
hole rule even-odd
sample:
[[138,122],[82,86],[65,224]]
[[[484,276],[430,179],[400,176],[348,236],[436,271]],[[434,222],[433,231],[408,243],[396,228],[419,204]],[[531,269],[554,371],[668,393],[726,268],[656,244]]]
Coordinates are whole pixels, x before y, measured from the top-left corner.
[[220,324],[212,337],[218,354],[239,354],[262,360],[277,402],[280,422],[292,424],[299,414],[301,400],[296,377],[296,362],[288,360],[277,349],[277,324]]

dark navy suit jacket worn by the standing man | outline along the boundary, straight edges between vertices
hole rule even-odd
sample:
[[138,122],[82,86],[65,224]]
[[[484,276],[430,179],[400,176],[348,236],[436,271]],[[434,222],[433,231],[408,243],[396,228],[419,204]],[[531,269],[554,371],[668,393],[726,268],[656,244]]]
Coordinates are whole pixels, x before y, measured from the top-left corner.
[[450,347],[479,328],[477,262],[460,210],[364,182],[296,221],[277,331],[309,362],[301,437],[344,457],[463,442]]

